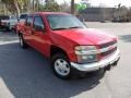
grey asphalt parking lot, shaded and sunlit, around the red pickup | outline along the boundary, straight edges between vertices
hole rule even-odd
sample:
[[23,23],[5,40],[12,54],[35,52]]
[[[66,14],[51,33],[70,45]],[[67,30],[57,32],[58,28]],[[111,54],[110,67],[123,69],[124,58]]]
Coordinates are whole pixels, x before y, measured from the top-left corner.
[[86,23],[119,38],[121,59],[104,77],[57,78],[36,50],[21,49],[15,33],[0,32],[0,98],[131,98],[131,23]]

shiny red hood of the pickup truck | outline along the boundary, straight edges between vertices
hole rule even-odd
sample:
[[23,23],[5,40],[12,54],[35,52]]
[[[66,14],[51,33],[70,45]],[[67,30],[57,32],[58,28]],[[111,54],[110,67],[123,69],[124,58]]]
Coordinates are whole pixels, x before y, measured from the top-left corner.
[[72,28],[53,33],[79,45],[100,45],[117,39],[114,35],[94,28]]

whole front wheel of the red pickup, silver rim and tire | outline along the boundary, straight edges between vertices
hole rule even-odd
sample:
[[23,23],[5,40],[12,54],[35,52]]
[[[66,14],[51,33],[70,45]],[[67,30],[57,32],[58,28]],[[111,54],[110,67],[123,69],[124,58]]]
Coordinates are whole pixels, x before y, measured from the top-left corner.
[[57,53],[51,58],[51,66],[55,74],[63,79],[71,77],[71,65],[68,57],[62,53]]

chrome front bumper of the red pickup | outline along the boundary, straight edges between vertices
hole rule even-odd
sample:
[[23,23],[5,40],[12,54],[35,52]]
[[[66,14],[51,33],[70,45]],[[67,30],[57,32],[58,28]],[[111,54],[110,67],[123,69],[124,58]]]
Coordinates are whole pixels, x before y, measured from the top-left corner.
[[108,65],[114,64],[119,60],[119,58],[120,58],[120,51],[119,49],[117,49],[117,51],[114,54],[107,57],[106,59],[103,59],[99,62],[86,63],[86,64],[79,64],[79,63],[71,62],[71,66],[79,71],[92,72],[92,71],[97,71],[102,68],[106,68]]

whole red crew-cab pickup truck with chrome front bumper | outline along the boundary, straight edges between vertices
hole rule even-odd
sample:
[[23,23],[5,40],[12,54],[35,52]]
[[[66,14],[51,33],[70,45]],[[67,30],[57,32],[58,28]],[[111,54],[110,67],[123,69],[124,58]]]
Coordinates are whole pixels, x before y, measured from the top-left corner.
[[38,12],[17,24],[20,45],[31,46],[50,58],[60,78],[117,65],[117,37],[87,28],[68,13]]

